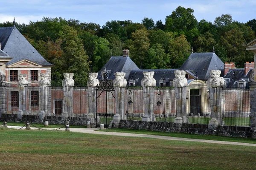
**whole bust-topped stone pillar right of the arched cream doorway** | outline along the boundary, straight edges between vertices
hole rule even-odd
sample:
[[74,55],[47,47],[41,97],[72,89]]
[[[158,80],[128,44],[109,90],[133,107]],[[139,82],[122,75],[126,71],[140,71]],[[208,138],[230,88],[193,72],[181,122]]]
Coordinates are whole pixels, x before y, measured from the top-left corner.
[[211,120],[209,120],[209,125],[224,125],[221,116],[221,95],[222,88],[224,87],[224,79],[220,75],[220,70],[211,70],[210,78],[206,82],[209,86],[211,105]]

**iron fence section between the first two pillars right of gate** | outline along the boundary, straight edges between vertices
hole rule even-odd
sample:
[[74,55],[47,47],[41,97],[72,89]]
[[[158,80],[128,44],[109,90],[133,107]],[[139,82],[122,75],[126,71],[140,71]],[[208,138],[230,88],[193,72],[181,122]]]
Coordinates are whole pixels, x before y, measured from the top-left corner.
[[126,112],[128,120],[142,120],[144,113],[143,87],[128,87],[126,89]]

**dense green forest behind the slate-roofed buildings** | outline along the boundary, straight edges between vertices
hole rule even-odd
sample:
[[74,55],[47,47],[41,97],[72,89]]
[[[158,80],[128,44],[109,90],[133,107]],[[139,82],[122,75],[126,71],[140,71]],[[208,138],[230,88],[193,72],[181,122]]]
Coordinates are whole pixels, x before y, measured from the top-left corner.
[[[216,17],[214,23],[198,22],[192,8],[177,7],[165,21],[144,17],[142,23],[131,20],[81,23],[44,17],[16,28],[52,67],[52,85],[61,85],[64,72],[74,73],[76,85],[86,85],[89,72],[98,72],[111,56],[129,57],[141,69],[179,68],[194,52],[212,52],[223,62],[235,62],[236,68],[253,61],[253,54],[242,44],[255,39],[256,20],[233,21],[230,14]],[[6,21],[0,27],[13,26]]]

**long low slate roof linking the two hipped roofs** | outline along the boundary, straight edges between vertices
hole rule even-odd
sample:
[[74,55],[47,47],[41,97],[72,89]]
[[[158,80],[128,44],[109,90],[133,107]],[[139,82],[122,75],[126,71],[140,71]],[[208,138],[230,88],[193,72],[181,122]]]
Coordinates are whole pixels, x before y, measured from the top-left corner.
[[[174,71],[177,69],[148,69],[148,70],[132,70],[130,76],[128,77],[127,82],[130,79],[135,79],[135,86],[141,86],[141,80],[144,78],[143,71],[154,71],[154,79],[156,79],[157,87],[159,86],[159,81],[164,78],[166,82],[175,78]],[[166,85],[170,86],[170,85]]]

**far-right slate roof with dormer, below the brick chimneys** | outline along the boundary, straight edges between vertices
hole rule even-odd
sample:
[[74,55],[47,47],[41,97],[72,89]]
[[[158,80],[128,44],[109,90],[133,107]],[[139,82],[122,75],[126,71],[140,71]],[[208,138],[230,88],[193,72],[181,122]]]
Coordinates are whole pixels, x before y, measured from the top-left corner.
[[253,68],[250,69],[250,71],[244,75],[244,68],[234,68],[230,69],[227,72],[227,75],[224,75],[224,69],[221,69],[221,77],[227,81],[228,86],[237,86],[238,81],[248,81],[250,79],[250,74],[252,73]]

